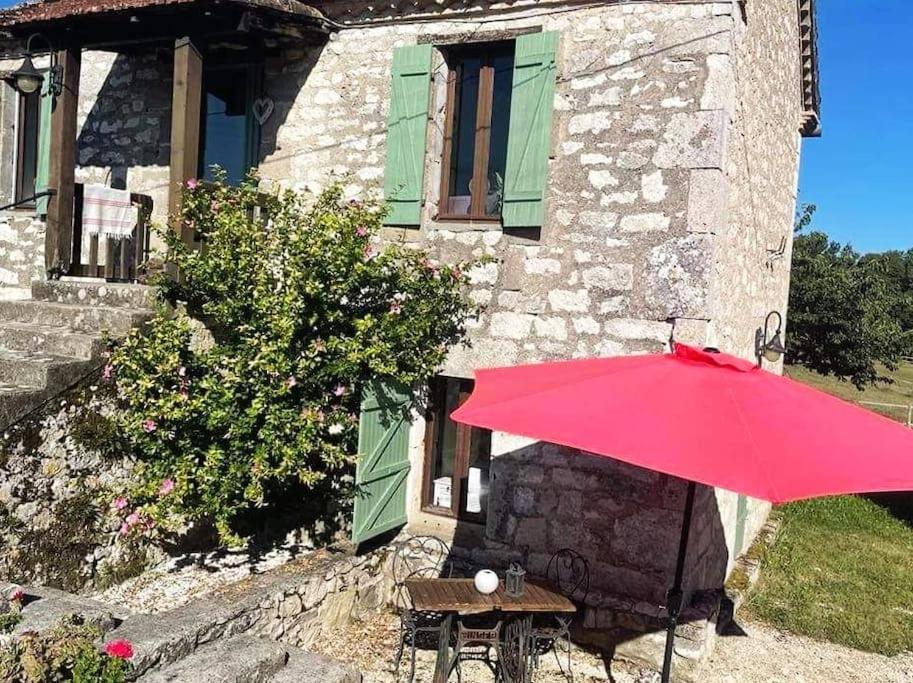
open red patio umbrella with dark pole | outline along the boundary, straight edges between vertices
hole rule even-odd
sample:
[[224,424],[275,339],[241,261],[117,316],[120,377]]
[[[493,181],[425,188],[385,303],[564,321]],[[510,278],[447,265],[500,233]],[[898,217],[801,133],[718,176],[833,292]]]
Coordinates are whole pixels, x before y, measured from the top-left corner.
[[773,503],[913,489],[913,430],[740,358],[668,354],[476,372],[457,422],[687,479],[669,591],[668,681],[695,482]]

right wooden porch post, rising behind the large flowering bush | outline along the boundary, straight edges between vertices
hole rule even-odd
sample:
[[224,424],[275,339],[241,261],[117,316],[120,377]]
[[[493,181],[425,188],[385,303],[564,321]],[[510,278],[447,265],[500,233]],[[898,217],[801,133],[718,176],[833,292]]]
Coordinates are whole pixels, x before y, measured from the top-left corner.
[[181,221],[181,187],[196,177],[199,168],[202,91],[203,58],[190,38],[178,38],[174,43],[168,216],[172,229],[187,244],[193,240],[193,234]]

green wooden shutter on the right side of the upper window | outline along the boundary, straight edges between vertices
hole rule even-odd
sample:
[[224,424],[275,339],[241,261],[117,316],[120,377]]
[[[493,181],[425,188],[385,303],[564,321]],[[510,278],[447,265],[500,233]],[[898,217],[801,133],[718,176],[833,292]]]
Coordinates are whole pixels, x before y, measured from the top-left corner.
[[545,219],[557,49],[554,31],[517,38],[501,209],[504,227],[536,227]]

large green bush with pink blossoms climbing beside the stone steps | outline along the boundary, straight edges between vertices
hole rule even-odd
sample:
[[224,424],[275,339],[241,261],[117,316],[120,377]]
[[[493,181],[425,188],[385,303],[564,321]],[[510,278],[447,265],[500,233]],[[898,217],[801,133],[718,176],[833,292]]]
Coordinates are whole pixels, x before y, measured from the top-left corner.
[[339,187],[308,204],[264,197],[254,177],[188,183],[183,212],[205,248],[163,233],[181,278],[158,284],[180,305],[105,368],[138,460],[112,505],[125,535],[211,521],[236,544],[239,519],[278,497],[346,492],[363,385],[412,385],[440,366],[474,313],[462,292],[474,264],[382,248],[383,207]]

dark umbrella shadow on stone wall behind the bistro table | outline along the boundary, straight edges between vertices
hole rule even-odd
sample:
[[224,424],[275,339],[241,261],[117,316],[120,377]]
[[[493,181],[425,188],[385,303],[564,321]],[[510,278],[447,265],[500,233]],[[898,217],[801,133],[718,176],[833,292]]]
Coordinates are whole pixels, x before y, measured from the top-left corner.
[[[666,591],[673,582],[687,482],[633,465],[536,443],[492,459],[484,547],[457,526],[454,547],[476,567],[511,561],[549,578],[554,553],[570,548],[589,569],[577,641],[646,661],[661,656]],[[699,657],[713,638],[729,548],[714,490],[699,485],[684,576],[690,604],[677,651]],[[583,596],[577,596],[582,598]]]

